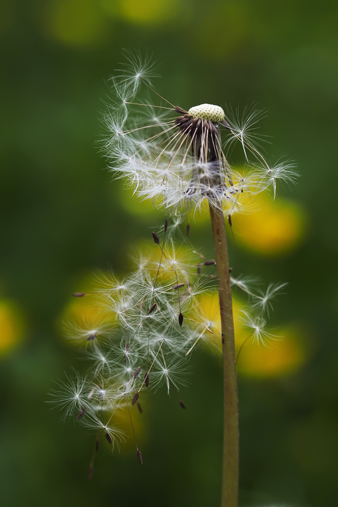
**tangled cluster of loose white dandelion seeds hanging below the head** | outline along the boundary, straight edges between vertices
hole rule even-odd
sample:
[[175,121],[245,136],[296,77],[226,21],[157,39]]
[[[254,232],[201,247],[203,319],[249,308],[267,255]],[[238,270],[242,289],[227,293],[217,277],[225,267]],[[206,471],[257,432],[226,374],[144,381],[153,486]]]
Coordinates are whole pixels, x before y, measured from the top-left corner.
[[[183,234],[183,220],[182,216],[166,220],[158,234],[153,232],[153,247],[139,252],[135,271],[124,279],[105,275],[97,280],[94,293],[73,294],[92,298],[99,310],[95,321],[66,324],[67,337],[80,345],[91,366],[85,376],[73,372],[52,395],[65,417],[97,430],[94,456],[100,434],[112,446],[124,440],[115,422],[118,411],[127,408],[132,420],[132,407],[142,412],[143,395],[161,386],[178,397],[195,347],[203,343],[221,350],[219,311],[210,315],[202,303],[202,297],[216,292],[215,261],[188,246],[190,226]],[[176,233],[182,238],[179,247],[173,238]],[[262,315],[269,312],[283,285],[254,294],[245,278],[231,281],[248,295],[239,315],[248,338],[260,343],[274,339]],[[179,398],[178,402],[185,408]],[[132,422],[131,429],[134,432]],[[136,452],[142,463],[137,444]],[[90,477],[92,473],[93,463]]]

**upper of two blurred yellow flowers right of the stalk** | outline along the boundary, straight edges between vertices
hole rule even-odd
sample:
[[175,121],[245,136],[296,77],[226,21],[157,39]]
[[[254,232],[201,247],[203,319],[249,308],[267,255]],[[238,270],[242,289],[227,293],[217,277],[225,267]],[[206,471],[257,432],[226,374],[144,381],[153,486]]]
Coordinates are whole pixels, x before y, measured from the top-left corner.
[[273,199],[267,194],[256,196],[257,211],[236,213],[232,219],[236,239],[263,255],[283,253],[294,248],[304,237],[306,218],[295,201]]

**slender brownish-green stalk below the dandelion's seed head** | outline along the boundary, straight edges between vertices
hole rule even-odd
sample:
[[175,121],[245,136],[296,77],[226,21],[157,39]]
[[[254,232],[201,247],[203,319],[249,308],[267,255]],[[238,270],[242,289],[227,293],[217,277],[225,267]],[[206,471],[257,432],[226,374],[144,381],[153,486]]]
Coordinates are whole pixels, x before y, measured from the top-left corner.
[[221,507],[238,506],[238,392],[229,257],[224,215],[209,203],[218,279],[223,350],[224,433]]

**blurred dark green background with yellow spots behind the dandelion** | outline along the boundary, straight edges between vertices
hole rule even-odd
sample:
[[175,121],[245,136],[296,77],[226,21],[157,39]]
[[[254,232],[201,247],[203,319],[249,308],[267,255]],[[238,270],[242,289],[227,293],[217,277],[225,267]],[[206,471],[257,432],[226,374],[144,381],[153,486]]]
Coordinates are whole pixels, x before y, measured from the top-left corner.
[[[71,294],[97,269],[128,272],[165,218],[111,181],[95,144],[123,48],[153,54],[157,90],[183,108],[257,103],[270,159],[297,162],[296,186],[234,219],[241,270],[289,282],[271,315],[284,340],[243,349],[240,498],[337,505],[337,26],[333,0],[0,1],[2,505],[219,504],[218,357],[195,354],[186,411],[164,390],[148,396],[142,467],[129,442],[112,455],[102,442],[91,482],[93,435],[45,403],[53,379],[84,368],[60,331]],[[191,239],[212,258],[207,220]]]

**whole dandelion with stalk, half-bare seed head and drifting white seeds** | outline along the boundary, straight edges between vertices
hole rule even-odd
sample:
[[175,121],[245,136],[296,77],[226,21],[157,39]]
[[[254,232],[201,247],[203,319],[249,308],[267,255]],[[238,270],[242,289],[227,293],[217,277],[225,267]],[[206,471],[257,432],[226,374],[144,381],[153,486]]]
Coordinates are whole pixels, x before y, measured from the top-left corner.
[[[121,280],[112,273],[98,277],[89,297],[104,310],[104,319],[95,325],[67,325],[71,340],[87,344],[84,353],[93,366],[84,378],[74,374],[53,395],[66,416],[96,429],[93,456],[99,436],[113,447],[123,440],[115,414],[127,407],[136,457],[142,464],[133,407],[142,413],[139,400],[150,389],[164,386],[167,393],[178,391],[185,385],[191,355],[201,342],[210,342],[222,350],[223,357],[222,505],[237,507],[239,433],[231,286],[248,297],[248,309],[242,311],[240,322],[253,341],[264,344],[276,336],[267,330],[263,315],[269,315],[285,284],[271,284],[266,292],[254,291],[253,278],[231,276],[224,216],[232,226],[231,216],[247,205],[248,197],[268,189],[275,194],[277,179],[292,182],[295,172],[290,163],[269,165],[260,153],[264,137],[257,133],[256,123],[262,113],[255,107],[242,119],[238,110],[231,110],[227,117],[222,107],[213,104],[185,110],[155,91],[155,73],[150,60],[127,53],[124,69],[111,80],[116,101],[103,118],[102,151],[116,177],[126,178],[135,193],[151,198],[172,218],[153,231],[151,246],[138,251],[134,272]],[[137,98],[142,87],[148,92],[147,99]],[[235,142],[243,149],[243,172],[228,161]],[[188,213],[205,205],[210,211],[214,259],[188,246]],[[215,274],[202,272],[205,269]],[[216,291],[219,308],[215,311],[205,301]],[[74,297],[84,295],[74,293]],[[185,408],[182,401],[179,404]]]

